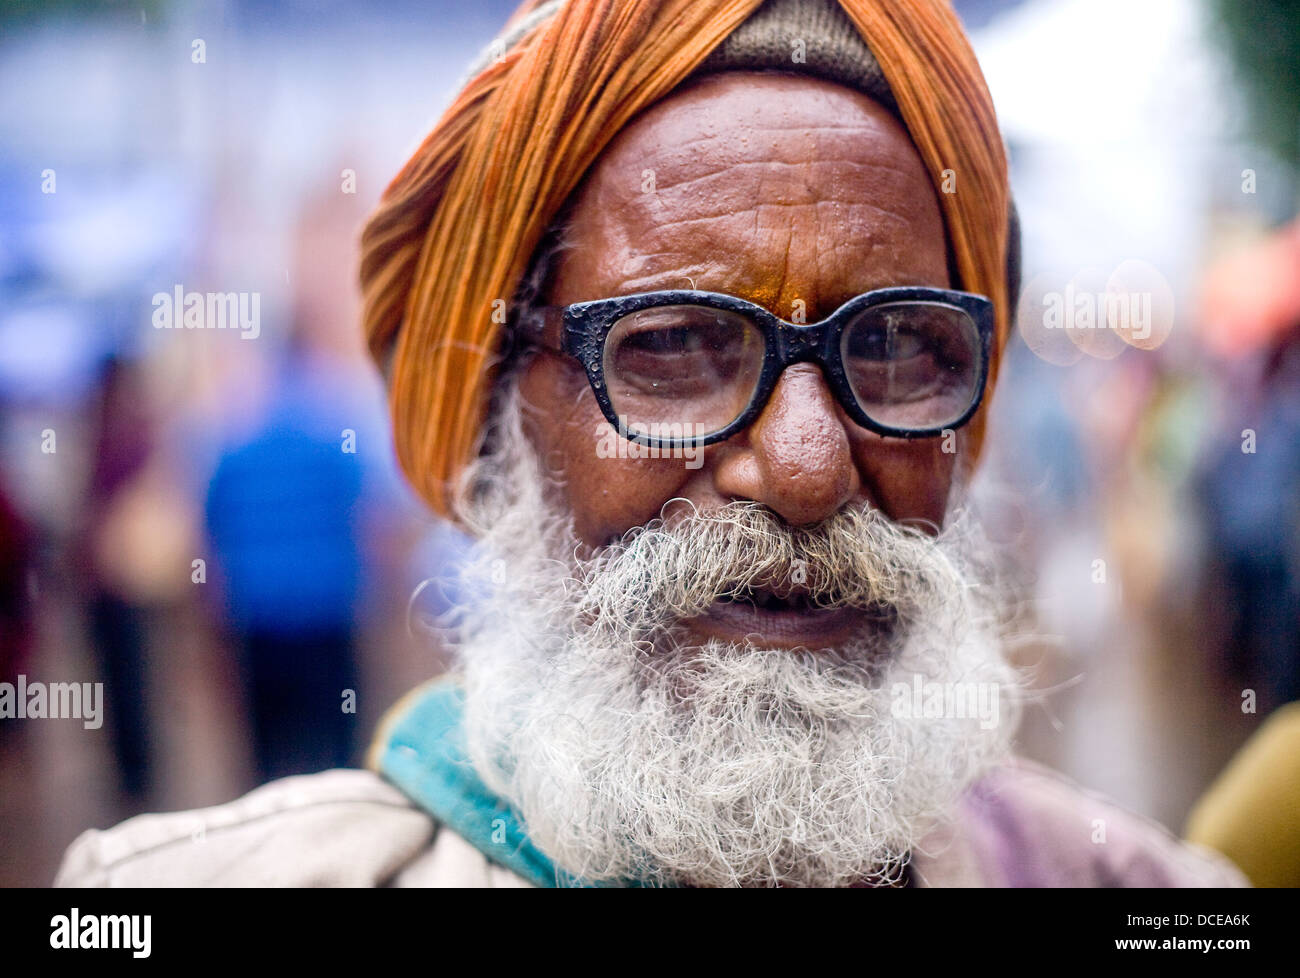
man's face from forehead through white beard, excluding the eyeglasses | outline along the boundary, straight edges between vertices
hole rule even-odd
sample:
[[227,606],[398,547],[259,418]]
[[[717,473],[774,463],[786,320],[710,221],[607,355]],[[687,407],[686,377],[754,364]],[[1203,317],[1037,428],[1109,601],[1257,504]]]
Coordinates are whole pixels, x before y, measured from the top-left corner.
[[[572,220],[555,304],[694,286],[812,323],[949,284],[906,135],[816,81],[724,74],[664,100]],[[702,467],[602,458],[576,363],[516,376],[462,514],[481,594],[464,730],[489,787],[588,879],[894,878],[1014,730],[978,537],[945,519],[954,456],[859,429],[797,364]],[[918,691],[994,710],[922,711]]]

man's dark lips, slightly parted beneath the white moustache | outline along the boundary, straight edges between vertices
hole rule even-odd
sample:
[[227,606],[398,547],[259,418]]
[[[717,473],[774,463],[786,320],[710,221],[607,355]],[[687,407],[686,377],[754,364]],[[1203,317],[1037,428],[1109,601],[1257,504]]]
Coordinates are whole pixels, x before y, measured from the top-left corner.
[[885,618],[858,607],[818,607],[800,592],[777,594],[758,589],[715,601],[684,624],[705,639],[764,648],[827,649],[885,627]]

